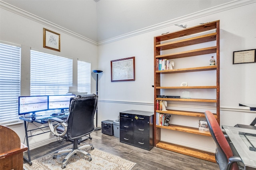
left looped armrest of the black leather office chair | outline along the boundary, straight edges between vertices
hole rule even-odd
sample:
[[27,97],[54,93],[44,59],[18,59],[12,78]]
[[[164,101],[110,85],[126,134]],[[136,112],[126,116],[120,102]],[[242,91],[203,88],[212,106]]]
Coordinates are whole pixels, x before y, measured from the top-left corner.
[[[53,125],[53,122],[57,122],[58,124]],[[67,129],[68,129],[68,125],[62,119],[59,119],[57,117],[52,117],[52,118],[48,119],[48,125],[50,127],[51,132],[52,132],[52,135],[55,135],[57,137],[64,136],[66,134]],[[63,132],[60,132],[60,131],[57,130],[57,128],[59,126],[64,127]]]

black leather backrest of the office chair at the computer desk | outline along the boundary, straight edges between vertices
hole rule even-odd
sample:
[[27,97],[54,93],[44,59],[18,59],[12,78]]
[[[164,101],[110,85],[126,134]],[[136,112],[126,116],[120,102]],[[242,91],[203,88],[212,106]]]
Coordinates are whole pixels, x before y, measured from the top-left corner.
[[88,94],[70,99],[70,110],[67,119],[67,137],[75,139],[94,131],[94,114],[98,104],[98,96]]

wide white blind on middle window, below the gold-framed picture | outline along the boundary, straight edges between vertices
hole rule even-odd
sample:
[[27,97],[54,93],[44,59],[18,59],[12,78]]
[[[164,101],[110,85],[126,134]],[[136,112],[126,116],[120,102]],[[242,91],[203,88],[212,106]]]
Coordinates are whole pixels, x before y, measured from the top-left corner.
[[66,94],[72,86],[73,60],[31,50],[30,95]]

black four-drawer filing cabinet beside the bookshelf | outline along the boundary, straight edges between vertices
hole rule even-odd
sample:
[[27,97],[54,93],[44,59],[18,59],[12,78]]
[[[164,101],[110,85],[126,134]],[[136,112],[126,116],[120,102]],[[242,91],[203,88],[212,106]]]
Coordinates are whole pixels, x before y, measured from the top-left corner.
[[120,142],[151,150],[154,145],[154,112],[127,110],[120,112]]

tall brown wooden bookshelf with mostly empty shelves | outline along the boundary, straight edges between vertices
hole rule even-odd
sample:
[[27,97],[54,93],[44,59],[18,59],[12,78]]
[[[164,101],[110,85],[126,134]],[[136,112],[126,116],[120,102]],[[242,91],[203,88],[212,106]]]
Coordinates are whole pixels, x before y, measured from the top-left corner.
[[[187,46],[190,46],[190,47],[187,48]],[[201,59],[205,60],[204,55],[206,54],[216,55],[215,65],[193,67],[193,66],[196,66],[196,64],[194,63],[196,63],[198,60],[201,60]],[[194,58],[191,58],[191,60],[189,60],[191,62],[190,68],[161,70],[161,69],[168,69],[168,64],[170,63],[170,61],[167,61],[167,60],[172,60],[172,59],[174,59],[175,62],[178,62],[178,64],[180,64],[179,66],[181,67],[182,65],[184,66],[187,65],[182,63],[182,62],[186,62],[184,59],[181,59],[184,57],[194,57]],[[172,77],[175,77],[173,81],[177,81],[177,80],[180,82],[184,81],[183,80],[184,78],[182,78],[182,76],[186,76],[187,72],[195,72],[195,73],[190,73],[189,76],[193,76],[194,80],[196,81],[196,78],[198,78],[197,77],[198,74],[196,72],[201,72],[201,71],[211,71],[211,72],[206,72],[205,74],[203,73],[202,76],[200,77],[200,80],[206,80],[204,78],[204,75],[206,76],[211,75],[211,78],[213,78],[213,81],[211,81],[211,84],[210,84],[211,86],[200,86],[200,81],[198,81],[198,84],[196,84],[196,86],[168,86],[168,85],[161,86],[161,84],[168,84],[168,82],[172,80]],[[183,74],[180,74],[181,75],[180,79],[176,73],[183,73]],[[162,74],[170,74],[170,75],[165,76]],[[180,84],[180,82],[175,82],[175,83]],[[169,89],[172,89],[172,90],[170,91]],[[191,89],[191,91],[196,92],[196,94],[198,94],[199,97],[198,98],[158,98],[158,96],[167,96],[168,94],[170,94],[170,92],[174,92],[174,94],[178,94],[182,89],[184,90]],[[214,89],[216,91],[216,95],[214,95],[213,97],[212,90],[204,90],[204,89]],[[160,108],[162,108],[163,106],[161,105],[163,104],[161,101],[166,101],[168,104],[178,103],[179,106],[182,106],[182,104],[186,105],[187,104],[186,102],[198,102],[198,105],[201,106],[202,108],[206,104],[209,104],[210,106],[213,106],[211,107],[213,110],[216,110],[216,111],[213,111],[215,112],[214,116],[217,119],[218,123],[220,122],[220,21],[213,21],[213,22],[197,25],[195,27],[190,27],[180,31],[175,31],[172,33],[167,33],[164,35],[159,35],[154,37],[154,114],[155,114],[154,146],[162,149],[166,149],[166,150],[172,150],[174,152],[179,152],[189,156],[194,156],[196,158],[216,162],[214,153],[212,152],[206,152],[204,150],[193,149],[193,148],[185,147],[182,145],[176,145],[174,143],[167,143],[167,142],[161,141],[161,131],[163,129],[167,129],[170,131],[171,130],[180,131],[181,135],[183,133],[184,135],[186,135],[186,133],[191,133],[192,135],[201,135],[202,137],[211,136],[209,131],[199,130],[198,128],[195,128],[195,127],[188,127],[186,122],[178,123],[176,122],[178,121],[178,119],[177,120],[175,119],[177,117],[182,118],[180,116],[187,116],[186,121],[194,121],[196,119],[195,117],[205,117],[204,112],[198,112],[198,110],[196,110],[195,108],[190,108],[189,111],[182,111],[182,110],[176,110],[173,108],[172,109],[167,108],[166,111],[162,111],[160,110]],[[178,106],[176,107],[178,108]],[[165,116],[162,116],[162,114],[176,115],[172,119],[171,125],[169,126],[157,125],[157,124],[161,124],[162,119],[164,120],[165,118]],[[159,115],[161,115],[161,118],[157,117]],[[192,117],[194,118],[192,119]],[[168,133],[168,131],[164,130],[164,133]],[[202,137],[200,137],[200,139],[202,139]],[[196,140],[196,138],[197,137],[195,136],[195,139],[193,140]],[[170,140],[172,141],[172,139]],[[174,141],[176,140],[174,139]]]

